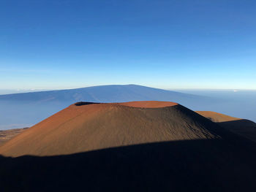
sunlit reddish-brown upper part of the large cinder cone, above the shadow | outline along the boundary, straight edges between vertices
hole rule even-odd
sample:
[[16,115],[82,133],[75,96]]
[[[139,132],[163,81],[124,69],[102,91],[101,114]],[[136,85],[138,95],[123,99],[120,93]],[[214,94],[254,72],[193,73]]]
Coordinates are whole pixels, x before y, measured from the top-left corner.
[[63,155],[108,147],[217,139],[215,124],[165,101],[72,104],[0,147],[0,154]]

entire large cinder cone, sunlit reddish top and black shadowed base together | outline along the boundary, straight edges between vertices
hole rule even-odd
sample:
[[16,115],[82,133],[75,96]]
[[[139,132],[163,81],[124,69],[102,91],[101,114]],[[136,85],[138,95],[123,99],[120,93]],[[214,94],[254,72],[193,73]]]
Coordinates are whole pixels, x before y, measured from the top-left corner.
[[255,191],[255,149],[254,142],[175,103],[81,102],[0,147],[5,155],[0,186],[3,191]]

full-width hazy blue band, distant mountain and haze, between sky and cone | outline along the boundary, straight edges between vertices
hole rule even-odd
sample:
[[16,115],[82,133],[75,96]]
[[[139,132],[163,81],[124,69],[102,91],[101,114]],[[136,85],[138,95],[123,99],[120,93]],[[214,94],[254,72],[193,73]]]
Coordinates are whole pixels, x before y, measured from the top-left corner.
[[[60,91],[0,95],[0,129],[32,126],[77,101],[174,101],[192,110],[256,121],[255,91],[166,91],[140,85],[102,85]],[[242,106],[242,107],[241,107]]]

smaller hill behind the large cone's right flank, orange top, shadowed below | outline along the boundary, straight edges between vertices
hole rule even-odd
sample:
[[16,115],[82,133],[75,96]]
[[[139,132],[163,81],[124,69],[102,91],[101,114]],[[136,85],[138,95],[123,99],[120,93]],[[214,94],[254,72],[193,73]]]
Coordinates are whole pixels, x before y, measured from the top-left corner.
[[219,112],[197,111],[197,113],[215,123],[218,123],[219,126],[233,131],[233,133],[239,134],[256,142],[256,123],[252,120],[233,118]]

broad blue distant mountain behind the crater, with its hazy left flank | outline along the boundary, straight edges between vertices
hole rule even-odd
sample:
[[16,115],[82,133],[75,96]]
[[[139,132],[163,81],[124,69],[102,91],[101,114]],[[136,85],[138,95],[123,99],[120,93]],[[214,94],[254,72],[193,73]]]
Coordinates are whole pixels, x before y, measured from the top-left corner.
[[[7,94],[0,95],[0,129],[32,126],[77,101],[173,101],[194,110],[194,107],[212,104],[214,99],[140,85],[102,85],[59,91]],[[201,110],[201,108],[195,110]]]

